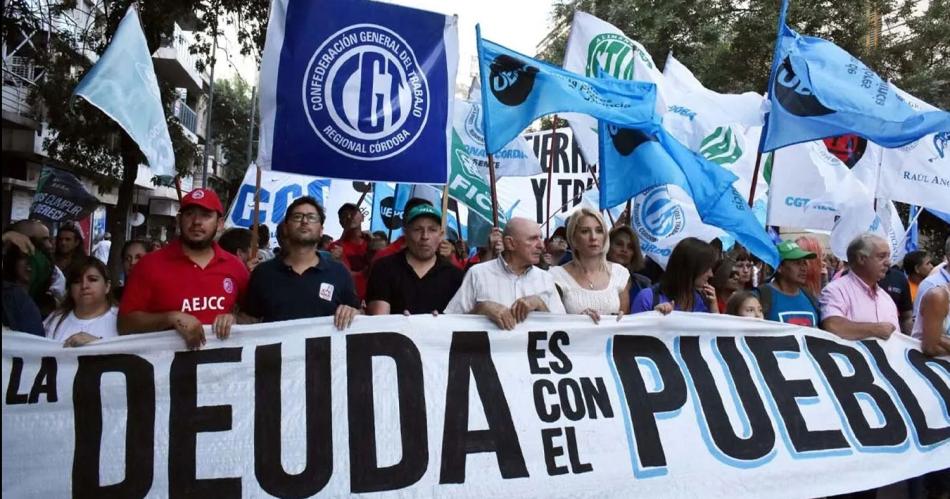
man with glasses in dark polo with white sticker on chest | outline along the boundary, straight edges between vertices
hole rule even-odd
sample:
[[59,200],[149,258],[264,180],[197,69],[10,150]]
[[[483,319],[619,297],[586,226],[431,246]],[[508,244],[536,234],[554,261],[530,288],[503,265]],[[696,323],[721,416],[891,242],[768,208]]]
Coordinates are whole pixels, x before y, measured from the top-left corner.
[[245,314],[262,322],[332,315],[338,329],[349,327],[360,303],[350,272],[317,251],[324,220],[323,207],[312,197],[290,203],[280,225],[280,255],[251,274]]

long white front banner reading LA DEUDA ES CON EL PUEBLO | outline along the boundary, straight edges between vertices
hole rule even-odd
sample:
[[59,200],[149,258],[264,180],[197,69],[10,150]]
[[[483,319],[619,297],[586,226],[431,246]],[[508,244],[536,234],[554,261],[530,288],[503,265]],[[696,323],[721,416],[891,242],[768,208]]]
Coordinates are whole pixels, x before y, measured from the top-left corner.
[[950,358],[709,314],[5,333],[10,497],[817,497],[950,462]]

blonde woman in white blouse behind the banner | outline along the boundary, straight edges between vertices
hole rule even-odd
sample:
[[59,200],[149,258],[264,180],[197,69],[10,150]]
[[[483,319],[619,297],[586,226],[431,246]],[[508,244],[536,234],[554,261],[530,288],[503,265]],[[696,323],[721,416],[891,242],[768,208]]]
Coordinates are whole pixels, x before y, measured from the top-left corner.
[[630,271],[607,261],[607,225],[600,213],[581,208],[567,220],[567,241],[574,258],[549,271],[569,314],[584,314],[600,322],[630,312]]

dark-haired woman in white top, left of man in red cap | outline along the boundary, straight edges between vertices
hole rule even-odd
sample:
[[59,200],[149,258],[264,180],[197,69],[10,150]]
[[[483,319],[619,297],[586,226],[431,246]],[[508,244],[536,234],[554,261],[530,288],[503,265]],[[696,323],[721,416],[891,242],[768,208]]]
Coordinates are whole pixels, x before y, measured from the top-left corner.
[[118,317],[106,266],[95,257],[73,262],[66,275],[66,299],[47,317],[46,337],[76,347],[118,336]]

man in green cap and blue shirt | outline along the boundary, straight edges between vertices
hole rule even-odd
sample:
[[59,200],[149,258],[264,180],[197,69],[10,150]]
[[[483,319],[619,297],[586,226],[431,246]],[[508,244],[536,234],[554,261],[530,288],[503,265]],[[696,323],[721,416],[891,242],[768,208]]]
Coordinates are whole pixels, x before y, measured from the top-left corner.
[[818,255],[803,250],[794,241],[782,241],[778,254],[781,263],[775,280],[756,289],[763,315],[770,321],[818,327],[818,300],[804,287],[808,282],[808,260]]

